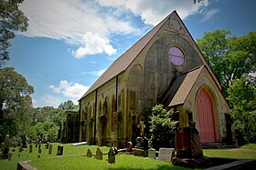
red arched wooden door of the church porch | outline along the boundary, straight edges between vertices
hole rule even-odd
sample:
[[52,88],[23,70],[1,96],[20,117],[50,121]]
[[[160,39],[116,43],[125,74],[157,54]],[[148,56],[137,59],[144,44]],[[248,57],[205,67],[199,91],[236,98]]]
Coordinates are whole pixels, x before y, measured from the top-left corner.
[[197,95],[197,115],[201,143],[216,142],[212,102],[204,89]]

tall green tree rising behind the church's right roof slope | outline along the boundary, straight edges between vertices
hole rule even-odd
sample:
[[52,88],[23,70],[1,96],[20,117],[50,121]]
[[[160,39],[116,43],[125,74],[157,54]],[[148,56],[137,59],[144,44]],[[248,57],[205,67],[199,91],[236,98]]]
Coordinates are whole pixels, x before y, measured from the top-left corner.
[[228,30],[216,30],[197,39],[197,45],[224,87],[225,96],[233,80],[256,69],[256,32],[240,37],[227,37],[229,34]]

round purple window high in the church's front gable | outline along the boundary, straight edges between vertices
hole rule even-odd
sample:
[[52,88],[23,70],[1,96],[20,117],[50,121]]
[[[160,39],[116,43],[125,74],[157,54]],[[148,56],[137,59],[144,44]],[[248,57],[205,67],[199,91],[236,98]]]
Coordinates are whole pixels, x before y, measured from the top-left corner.
[[168,56],[174,65],[182,65],[185,60],[183,52],[176,46],[172,46],[168,51]]

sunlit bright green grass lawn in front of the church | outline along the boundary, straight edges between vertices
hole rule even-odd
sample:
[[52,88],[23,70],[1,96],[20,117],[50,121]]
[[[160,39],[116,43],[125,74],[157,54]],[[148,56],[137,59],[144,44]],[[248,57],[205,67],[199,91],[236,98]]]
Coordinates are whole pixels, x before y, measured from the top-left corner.
[[[96,152],[95,145],[64,145],[63,156],[57,156],[57,146],[53,145],[52,155],[48,155],[48,149],[41,146],[41,158],[37,158],[37,148],[33,145],[33,152],[28,153],[28,147],[18,156],[18,149],[13,153],[12,160],[0,160],[0,170],[14,170],[19,160],[31,160],[29,164],[37,167],[37,169],[188,169],[184,167],[174,166],[171,163],[152,160],[149,158],[138,157],[133,155],[116,155],[116,163],[108,164],[107,155],[103,155],[103,160],[96,160],[93,157],[84,156],[87,149],[91,148],[92,153]],[[253,150],[254,149],[254,150]],[[108,147],[101,147],[103,153],[109,151]],[[74,156],[72,156],[74,155]],[[204,155],[221,156],[230,158],[250,158],[256,159],[256,144],[244,145],[236,149],[206,149]]]

